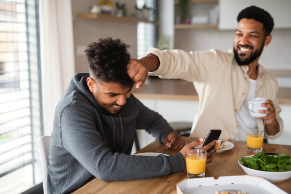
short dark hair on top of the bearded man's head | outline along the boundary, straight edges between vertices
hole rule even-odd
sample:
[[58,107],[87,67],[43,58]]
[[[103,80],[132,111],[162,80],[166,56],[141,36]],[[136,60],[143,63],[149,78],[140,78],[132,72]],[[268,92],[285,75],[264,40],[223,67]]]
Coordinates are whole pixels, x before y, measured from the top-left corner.
[[250,6],[244,8],[238,15],[237,21],[239,22],[242,18],[254,19],[263,24],[264,35],[269,35],[274,28],[274,19],[273,17],[264,9],[261,9],[257,6]]

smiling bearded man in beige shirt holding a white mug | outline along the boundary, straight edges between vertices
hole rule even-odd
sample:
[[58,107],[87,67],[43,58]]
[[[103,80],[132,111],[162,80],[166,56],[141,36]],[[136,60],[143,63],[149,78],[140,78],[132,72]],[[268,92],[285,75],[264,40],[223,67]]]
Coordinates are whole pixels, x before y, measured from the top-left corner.
[[[277,81],[258,64],[263,48],[272,40],[274,20],[256,6],[242,10],[237,20],[234,48],[226,52],[151,48],[144,58],[129,61],[128,74],[137,82],[137,88],[144,83],[147,74],[194,82],[199,110],[192,137],[206,137],[210,129],[221,129],[221,139],[237,141],[246,141],[246,129],[264,129],[264,137],[269,139],[283,132]],[[261,104],[268,110],[259,111],[267,116],[250,116],[247,100],[253,97],[268,98]]]

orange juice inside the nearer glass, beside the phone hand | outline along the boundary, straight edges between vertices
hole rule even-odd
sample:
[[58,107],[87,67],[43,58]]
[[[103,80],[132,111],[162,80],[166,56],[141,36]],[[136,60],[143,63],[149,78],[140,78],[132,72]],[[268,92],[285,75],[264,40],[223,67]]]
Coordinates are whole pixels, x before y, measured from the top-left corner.
[[186,166],[187,172],[192,175],[205,173],[206,157],[189,155],[186,157]]

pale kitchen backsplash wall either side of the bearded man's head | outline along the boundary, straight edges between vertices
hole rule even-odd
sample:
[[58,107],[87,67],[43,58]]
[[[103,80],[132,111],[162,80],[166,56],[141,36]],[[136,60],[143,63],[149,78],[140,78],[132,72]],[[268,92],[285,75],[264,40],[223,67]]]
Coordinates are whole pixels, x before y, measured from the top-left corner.
[[[291,71],[291,29],[274,29],[270,45],[264,48],[259,64],[269,70]],[[233,48],[235,31],[218,29],[175,30],[175,49],[198,51]]]

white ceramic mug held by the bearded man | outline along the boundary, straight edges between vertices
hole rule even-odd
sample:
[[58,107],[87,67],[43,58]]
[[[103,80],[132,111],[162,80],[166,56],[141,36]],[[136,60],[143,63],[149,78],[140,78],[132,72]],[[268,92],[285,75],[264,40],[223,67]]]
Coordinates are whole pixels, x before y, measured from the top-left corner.
[[249,111],[252,117],[258,118],[258,117],[264,117],[268,115],[265,113],[259,113],[259,110],[268,110],[267,107],[261,106],[261,103],[266,103],[265,100],[267,99],[268,98],[266,97],[255,97],[247,101],[249,105]]

